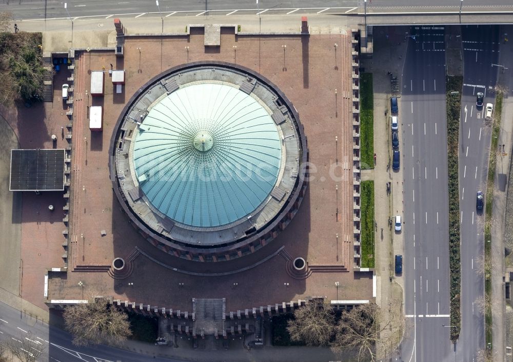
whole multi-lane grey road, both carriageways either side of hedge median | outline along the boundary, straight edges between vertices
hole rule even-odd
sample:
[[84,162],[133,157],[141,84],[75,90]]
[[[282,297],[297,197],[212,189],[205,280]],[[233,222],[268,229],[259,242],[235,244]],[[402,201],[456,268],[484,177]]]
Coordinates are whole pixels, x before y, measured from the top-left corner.
[[[495,103],[498,26],[468,26],[461,35],[464,86],[461,102],[459,186],[461,210],[461,333],[449,340],[449,260],[445,29],[412,27],[402,78],[400,120],[404,178],[404,288],[407,331],[400,354],[408,361],[476,360],[485,348],[484,294],[477,272],[483,256],[485,191],[491,126],[476,93]],[[482,267],[482,265],[481,265]]]

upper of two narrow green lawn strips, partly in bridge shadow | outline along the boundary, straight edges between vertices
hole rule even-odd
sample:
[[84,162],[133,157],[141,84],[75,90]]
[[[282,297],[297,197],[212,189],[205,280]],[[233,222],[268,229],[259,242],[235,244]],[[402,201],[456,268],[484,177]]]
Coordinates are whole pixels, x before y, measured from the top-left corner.
[[374,168],[374,99],[372,73],[360,74],[360,166]]

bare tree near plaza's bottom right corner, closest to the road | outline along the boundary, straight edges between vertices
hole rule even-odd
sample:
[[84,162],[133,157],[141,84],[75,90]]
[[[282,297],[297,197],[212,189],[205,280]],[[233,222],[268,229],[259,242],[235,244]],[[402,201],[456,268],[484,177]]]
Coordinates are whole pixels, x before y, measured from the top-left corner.
[[397,348],[401,329],[399,303],[391,303],[388,311],[376,304],[363,304],[342,313],[332,347],[336,351],[356,350],[359,361],[376,361]]

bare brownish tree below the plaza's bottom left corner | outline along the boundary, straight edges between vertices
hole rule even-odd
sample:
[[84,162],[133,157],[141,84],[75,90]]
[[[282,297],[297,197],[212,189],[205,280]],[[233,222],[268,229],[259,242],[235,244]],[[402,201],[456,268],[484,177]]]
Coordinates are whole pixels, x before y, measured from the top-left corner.
[[128,314],[111,306],[106,298],[67,307],[63,317],[75,346],[120,345],[132,335]]

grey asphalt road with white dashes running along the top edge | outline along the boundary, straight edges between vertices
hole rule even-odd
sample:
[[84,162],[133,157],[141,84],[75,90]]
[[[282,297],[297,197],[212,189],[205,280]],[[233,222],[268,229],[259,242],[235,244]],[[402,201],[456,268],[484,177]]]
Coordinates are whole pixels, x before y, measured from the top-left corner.
[[[64,9],[67,3],[67,9]],[[22,19],[74,19],[86,16],[199,16],[199,15],[255,15],[316,14],[410,11],[513,11],[510,0],[0,0],[2,10],[12,11],[16,20]]]

